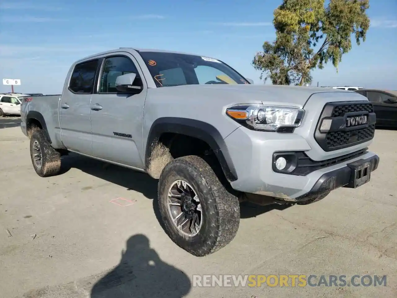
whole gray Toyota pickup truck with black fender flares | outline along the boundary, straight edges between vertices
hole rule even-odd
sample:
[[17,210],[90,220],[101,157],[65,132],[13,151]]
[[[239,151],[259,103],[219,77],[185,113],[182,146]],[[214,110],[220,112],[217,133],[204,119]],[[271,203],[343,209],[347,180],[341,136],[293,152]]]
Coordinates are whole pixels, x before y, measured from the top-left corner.
[[376,115],[338,89],[254,85],[224,62],[119,48],[75,62],[62,95],[25,97],[33,167],[78,153],[158,179],[168,236],[204,256],[229,244],[240,203],[309,204],[370,180]]

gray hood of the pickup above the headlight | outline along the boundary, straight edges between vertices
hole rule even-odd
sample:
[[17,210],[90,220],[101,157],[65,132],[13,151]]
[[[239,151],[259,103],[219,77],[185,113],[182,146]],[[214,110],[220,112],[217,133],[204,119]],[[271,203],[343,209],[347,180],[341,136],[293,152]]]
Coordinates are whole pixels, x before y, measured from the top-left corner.
[[163,95],[179,95],[189,99],[197,99],[199,102],[205,98],[211,101],[219,100],[228,104],[266,103],[269,105],[295,106],[297,108],[303,108],[313,93],[343,92],[357,94],[354,91],[322,87],[251,84],[181,85],[156,89],[155,92],[161,92]]

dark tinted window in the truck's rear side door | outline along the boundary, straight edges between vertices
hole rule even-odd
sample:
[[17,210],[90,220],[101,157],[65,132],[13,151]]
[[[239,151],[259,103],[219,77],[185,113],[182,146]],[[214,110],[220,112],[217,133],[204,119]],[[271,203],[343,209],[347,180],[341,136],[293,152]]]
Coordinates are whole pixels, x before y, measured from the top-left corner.
[[97,68],[98,59],[77,64],[70,78],[69,90],[79,94],[92,93]]

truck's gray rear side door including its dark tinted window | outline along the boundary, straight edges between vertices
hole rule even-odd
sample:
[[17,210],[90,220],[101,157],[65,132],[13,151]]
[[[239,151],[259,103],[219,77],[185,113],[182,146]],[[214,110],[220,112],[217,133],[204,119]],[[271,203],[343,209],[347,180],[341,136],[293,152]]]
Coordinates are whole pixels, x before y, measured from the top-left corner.
[[87,60],[71,70],[59,106],[62,142],[67,149],[87,155],[92,153],[90,101],[99,62]]

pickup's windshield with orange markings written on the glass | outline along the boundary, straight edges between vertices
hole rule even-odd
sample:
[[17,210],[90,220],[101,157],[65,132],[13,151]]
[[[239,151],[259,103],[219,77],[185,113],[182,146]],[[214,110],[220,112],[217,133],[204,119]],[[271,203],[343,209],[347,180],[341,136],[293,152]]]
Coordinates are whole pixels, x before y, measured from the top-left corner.
[[249,84],[225,63],[207,57],[166,52],[139,52],[157,87],[202,84]]

